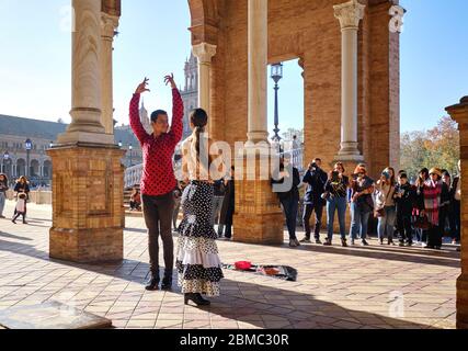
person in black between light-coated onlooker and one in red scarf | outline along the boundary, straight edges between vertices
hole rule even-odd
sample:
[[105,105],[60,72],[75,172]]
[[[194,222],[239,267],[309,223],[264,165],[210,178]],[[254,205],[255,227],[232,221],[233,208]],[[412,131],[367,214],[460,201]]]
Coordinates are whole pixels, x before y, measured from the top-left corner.
[[408,182],[408,174],[400,173],[393,193],[393,200],[397,204],[397,227],[400,235],[400,246],[413,245],[411,216],[415,196],[415,189]]

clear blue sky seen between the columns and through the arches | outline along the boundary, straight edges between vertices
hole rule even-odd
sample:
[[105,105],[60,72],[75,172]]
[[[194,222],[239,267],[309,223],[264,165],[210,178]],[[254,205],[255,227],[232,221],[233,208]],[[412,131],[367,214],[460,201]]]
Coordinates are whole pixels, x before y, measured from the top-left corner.
[[[0,114],[70,121],[70,0],[0,0]],[[468,1],[402,0],[408,10],[401,34],[401,129],[430,128],[444,107],[468,94]],[[336,22],[336,25],[338,22]],[[148,110],[171,109],[163,76],[183,83],[190,55],[186,0],[123,0],[121,34],[114,45],[115,118],[127,123],[136,84],[150,78]],[[303,125],[301,69],[284,67],[281,128]],[[269,79],[269,124],[273,84]]]

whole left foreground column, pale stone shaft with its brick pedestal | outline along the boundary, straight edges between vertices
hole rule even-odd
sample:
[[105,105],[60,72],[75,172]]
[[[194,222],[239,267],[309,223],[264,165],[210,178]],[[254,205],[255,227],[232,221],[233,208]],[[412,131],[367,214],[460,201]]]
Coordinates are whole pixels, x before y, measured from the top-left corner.
[[[102,125],[105,50],[101,0],[73,0],[72,4],[72,122],[46,151],[53,171],[49,256],[72,262],[118,261],[124,254],[121,159],[125,150]],[[112,57],[112,43],[107,44],[111,53],[106,58]],[[112,60],[106,63],[112,66]],[[112,120],[112,78],[105,77],[104,95]]]

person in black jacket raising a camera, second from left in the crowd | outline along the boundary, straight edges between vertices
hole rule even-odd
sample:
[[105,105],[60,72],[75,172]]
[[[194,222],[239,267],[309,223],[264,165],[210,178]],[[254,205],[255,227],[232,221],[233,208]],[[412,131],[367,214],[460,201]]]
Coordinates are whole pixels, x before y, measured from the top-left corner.
[[300,242],[310,242],[310,217],[312,212],[316,214],[316,227],[313,237],[316,244],[322,244],[320,241],[320,228],[322,225],[322,213],[323,206],[327,201],[322,199],[324,192],[324,185],[328,180],[328,174],[320,168],[321,160],[316,158],[312,163],[309,165],[306,173],[304,174],[303,182],[308,184],[306,195],[304,196],[304,215],[303,224],[304,230],[306,231],[305,237]]

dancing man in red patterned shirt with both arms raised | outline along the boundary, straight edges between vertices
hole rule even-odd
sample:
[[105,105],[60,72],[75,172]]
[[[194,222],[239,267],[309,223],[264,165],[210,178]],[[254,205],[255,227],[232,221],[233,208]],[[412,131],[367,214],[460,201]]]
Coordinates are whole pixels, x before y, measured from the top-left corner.
[[173,75],[165,76],[164,82],[165,84],[170,83],[172,88],[173,110],[170,129],[168,113],[162,110],[151,113],[153,131],[151,135],[146,133],[141,125],[139,100],[141,93],[149,91],[147,89],[147,78],[138,86],[130,101],[130,126],[141,145],[144,159],[140,189],[145,223],[148,228],[148,251],[151,271],[151,278],[146,290],[158,290],[160,281],[159,235],[161,235],[162,239],[165,267],[161,290],[170,290],[172,287],[172,268],[174,264],[171,220],[174,208],[173,190],[176,186],[176,180],[172,168],[172,157],[176,144],[182,138],[184,106]]

